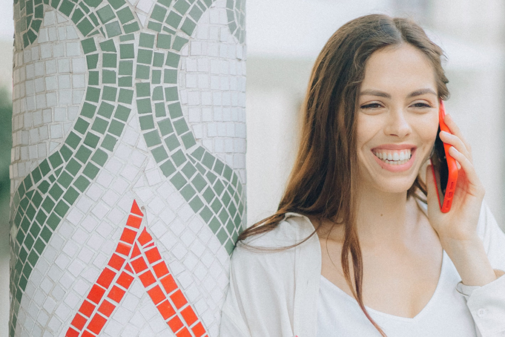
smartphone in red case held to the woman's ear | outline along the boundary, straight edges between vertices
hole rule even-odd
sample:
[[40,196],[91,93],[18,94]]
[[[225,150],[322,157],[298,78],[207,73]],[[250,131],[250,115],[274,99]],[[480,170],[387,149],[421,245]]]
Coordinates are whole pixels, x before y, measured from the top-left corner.
[[450,133],[449,128],[444,122],[445,108],[442,100],[439,101],[438,110],[438,132],[435,139],[435,145],[431,153],[431,170],[435,179],[438,204],[442,213],[447,213],[452,204],[452,197],[456,189],[458,180],[458,166],[456,159],[449,156],[449,144],[440,139],[440,130]]

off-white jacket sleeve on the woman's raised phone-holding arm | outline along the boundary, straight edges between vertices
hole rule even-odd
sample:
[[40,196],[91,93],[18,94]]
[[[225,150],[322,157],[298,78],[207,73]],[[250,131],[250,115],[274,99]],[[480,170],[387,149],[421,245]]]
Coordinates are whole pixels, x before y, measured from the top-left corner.
[[[477,230],[491,266],[505,271],[505,234],[485,203]],[[467,299],[480,336],[505,337],[505,275],[484,286],[466,286],[460,282],[457,290]]]

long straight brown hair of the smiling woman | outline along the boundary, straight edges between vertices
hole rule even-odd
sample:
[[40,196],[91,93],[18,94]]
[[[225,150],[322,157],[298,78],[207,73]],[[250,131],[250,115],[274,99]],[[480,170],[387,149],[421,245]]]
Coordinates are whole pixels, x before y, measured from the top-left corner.
[[[370,55],[402,43],[417,47],[427,56],[435,72],[438,97],[447,99],[448,80],[441,66],[443,52],[418,24],[378,14],[349,21],[331,36],[312,69],[302,106],[300,147],[277,212],[247,228],[238,238],[240,241],[273,230],[287,212],[338,219],[345,226],[340,256],[345,280],[367,318],[383,336],[384,332],[365,309],[362,297],[363,261],[355,225],[358,180],[355,111]],[[409,188],[407,198],[423,199],[419,192],[426,196],[420,176]]]

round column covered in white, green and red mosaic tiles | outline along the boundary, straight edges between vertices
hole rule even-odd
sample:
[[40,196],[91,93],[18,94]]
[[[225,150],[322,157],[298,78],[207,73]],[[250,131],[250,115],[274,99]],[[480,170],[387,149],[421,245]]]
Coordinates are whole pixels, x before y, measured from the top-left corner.
[[14,0],[10,336],[217,337],[244,0]]

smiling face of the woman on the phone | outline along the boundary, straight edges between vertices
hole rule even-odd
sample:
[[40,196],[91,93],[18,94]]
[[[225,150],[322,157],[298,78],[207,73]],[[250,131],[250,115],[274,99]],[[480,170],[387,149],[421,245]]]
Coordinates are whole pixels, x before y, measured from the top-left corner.
[[437,130],[437,88],[427,57],[407,43],[374,52],[357,107],[360,185],[407,191],[431,153]]

